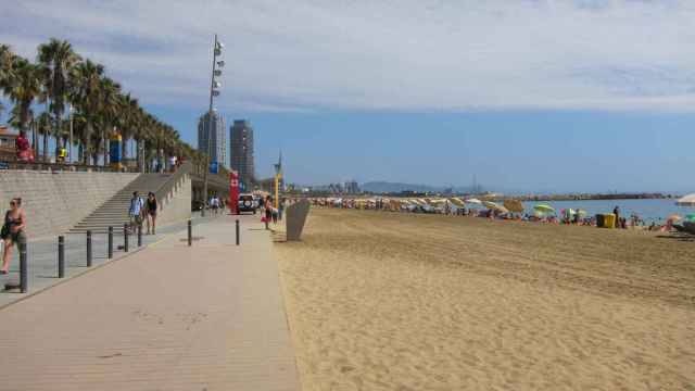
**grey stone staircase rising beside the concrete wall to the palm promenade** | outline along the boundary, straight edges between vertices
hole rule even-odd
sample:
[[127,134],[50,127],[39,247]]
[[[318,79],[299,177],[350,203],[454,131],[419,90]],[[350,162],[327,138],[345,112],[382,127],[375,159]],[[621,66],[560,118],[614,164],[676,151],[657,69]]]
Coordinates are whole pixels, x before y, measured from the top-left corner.
[[[173,174],[141,174],[128,186],[118,191],[110,200],[97,207],[85,219],[70,229],[70,234],[79,234],[91,230],[92,232],[106,232],[109,227],[114,231],[123,229],[123,225],[129,222],[128,209],[132,192],[137,191],[142,200],[147,200],[148,192],[157,192],[173,177]],[[77,205],[75,205],[77,206]]]

